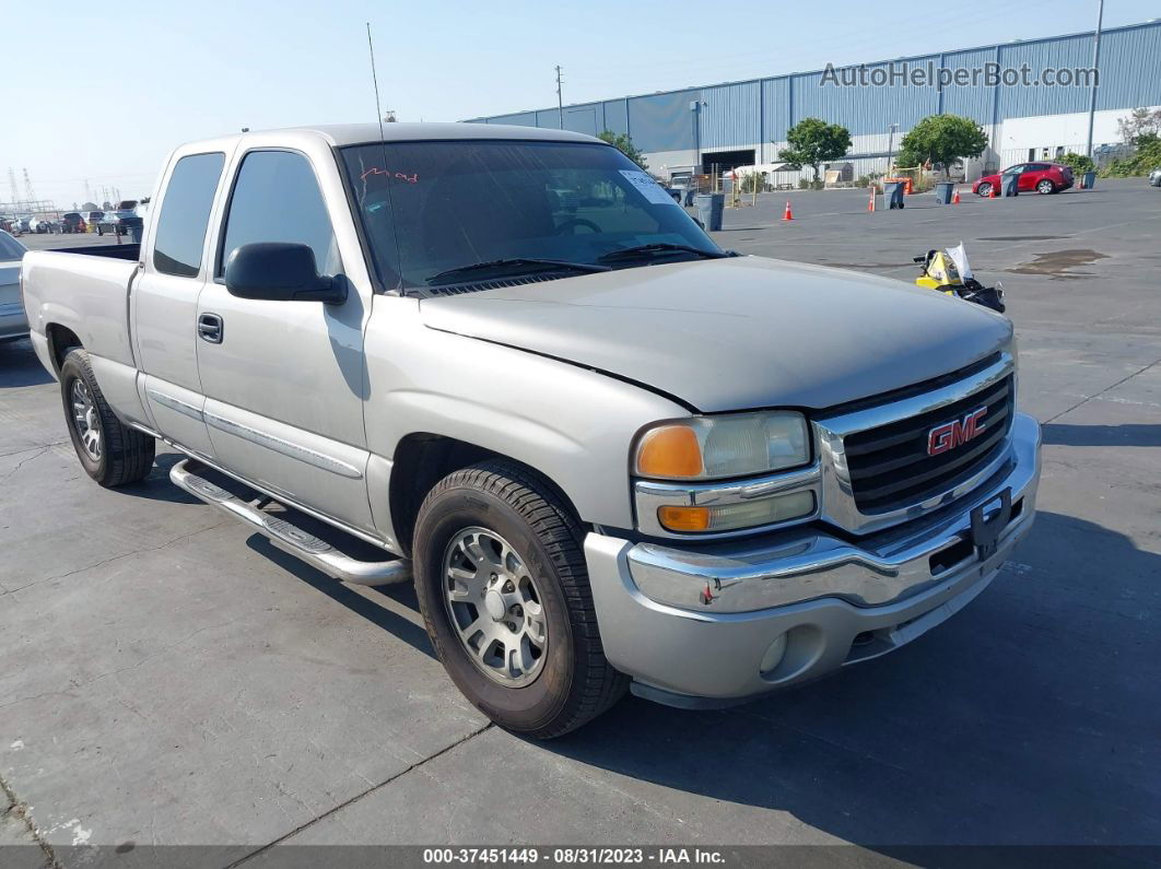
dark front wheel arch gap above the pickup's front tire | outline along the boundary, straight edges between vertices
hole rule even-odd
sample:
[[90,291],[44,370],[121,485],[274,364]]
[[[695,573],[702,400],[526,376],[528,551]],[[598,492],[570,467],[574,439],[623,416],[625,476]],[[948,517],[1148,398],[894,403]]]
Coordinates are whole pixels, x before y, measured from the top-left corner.
[[564,488],[527,462],[457,437],[431,432],[412,432],[399,441],[395,450],[388,484],[391,528],[403,555],[411,556],[419,506],[432,487],[454,471],[488,461],[509,462],[519,468],[555,495],[577,522],[583,522],[576,505]]

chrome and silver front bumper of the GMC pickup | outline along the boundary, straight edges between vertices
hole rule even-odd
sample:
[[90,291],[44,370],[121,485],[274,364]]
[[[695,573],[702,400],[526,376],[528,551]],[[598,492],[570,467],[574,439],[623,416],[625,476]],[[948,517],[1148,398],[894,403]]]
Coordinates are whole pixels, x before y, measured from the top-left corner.
[[[706,705],[896,649],[982,592],[1027,534],[1039,454],[1039,425],[1016,414],[1007,461],[974,493],[857,539],[799,528],[692,551],[590,534],[605,653],[635,693]],[[993,513],[1004,492],[1011,517],[981,559],[972,510]]]

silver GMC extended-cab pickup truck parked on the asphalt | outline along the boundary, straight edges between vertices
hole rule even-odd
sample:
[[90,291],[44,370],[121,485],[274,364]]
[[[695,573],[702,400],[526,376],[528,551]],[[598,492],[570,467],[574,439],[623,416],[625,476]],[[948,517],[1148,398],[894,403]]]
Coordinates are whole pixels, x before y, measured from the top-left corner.
[[318,570],[413,580],[513,731],[874,658],[1031,526],[1008,320],[723,252],[590,137],[247,132],[176,149],[153,202],[139,245],[23,259],[85,470],[139,480],[161,440]]

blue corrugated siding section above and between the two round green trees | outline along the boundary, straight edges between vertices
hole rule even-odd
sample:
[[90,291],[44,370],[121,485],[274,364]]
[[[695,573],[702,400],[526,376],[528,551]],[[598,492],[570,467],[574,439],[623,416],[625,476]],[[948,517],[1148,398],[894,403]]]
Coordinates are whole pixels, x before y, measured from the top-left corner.
[[[937,65],[939,56],[933,55]],[[909,60],[909,67],[925,66],[928,58]],[[901,74],[903,66],[896,65]],[[888,74],[889,63],[868,64],[867,75]],[[875,73],[882,70],[884,73]],[[890,124],[901,124],[909,130],[917,121],[938,110],[938,93],[933,87],[842,87],[823,82],[822,73],[794,75],[794,120],[821,117],[823,121],[841,123],[852,136],[879,132]]]

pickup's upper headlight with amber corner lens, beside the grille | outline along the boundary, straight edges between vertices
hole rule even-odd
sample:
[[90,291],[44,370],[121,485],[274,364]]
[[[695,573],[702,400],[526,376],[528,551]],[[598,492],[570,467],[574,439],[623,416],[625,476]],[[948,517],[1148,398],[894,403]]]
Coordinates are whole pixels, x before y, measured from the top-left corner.
[[639,477],[748,477],[810,461],[806,418],[794,411],[695,417],[648,429],[637,441]]

